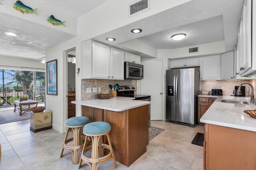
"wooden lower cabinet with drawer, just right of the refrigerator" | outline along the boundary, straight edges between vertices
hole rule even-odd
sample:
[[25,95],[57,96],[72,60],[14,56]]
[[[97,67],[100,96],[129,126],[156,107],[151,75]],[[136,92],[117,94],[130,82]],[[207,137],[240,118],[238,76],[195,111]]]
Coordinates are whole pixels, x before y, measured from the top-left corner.
[[200,119],[215,100],[216,98],[198,97],[198,124],[199,125],[204,125],[204,123],[200,122]]

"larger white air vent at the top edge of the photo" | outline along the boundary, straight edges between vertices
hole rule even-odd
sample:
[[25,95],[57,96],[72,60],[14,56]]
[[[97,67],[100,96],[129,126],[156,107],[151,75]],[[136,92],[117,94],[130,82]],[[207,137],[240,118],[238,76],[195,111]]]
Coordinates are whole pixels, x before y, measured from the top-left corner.
[[140,14],[150,9],[150,0],[140,0],[135,4],[129,5],[129,17]]

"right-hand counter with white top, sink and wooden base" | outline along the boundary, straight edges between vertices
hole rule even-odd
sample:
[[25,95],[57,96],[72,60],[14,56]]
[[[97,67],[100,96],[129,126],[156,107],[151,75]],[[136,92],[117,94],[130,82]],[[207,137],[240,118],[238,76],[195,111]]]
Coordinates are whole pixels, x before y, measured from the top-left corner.
[[[201,96],[202,97],[202,96]],[[221,100],[248,104],[224,103]],[[219,96],[201,117],[204,125],[204,169],[255,169],[256,119],[249,97]]]

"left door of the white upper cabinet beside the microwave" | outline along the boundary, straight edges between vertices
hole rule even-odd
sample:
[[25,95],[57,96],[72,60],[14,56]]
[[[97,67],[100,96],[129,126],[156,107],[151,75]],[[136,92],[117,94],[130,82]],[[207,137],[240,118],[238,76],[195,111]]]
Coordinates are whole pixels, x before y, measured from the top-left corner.
[[92,41],[92,78],[110,78],[110,47]]

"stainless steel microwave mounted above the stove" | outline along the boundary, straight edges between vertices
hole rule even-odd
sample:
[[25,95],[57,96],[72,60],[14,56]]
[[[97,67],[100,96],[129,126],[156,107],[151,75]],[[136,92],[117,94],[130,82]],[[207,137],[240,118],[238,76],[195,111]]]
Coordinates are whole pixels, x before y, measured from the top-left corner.
[[124,79],[141,80],[143,79],[143,65],[124,62]]

